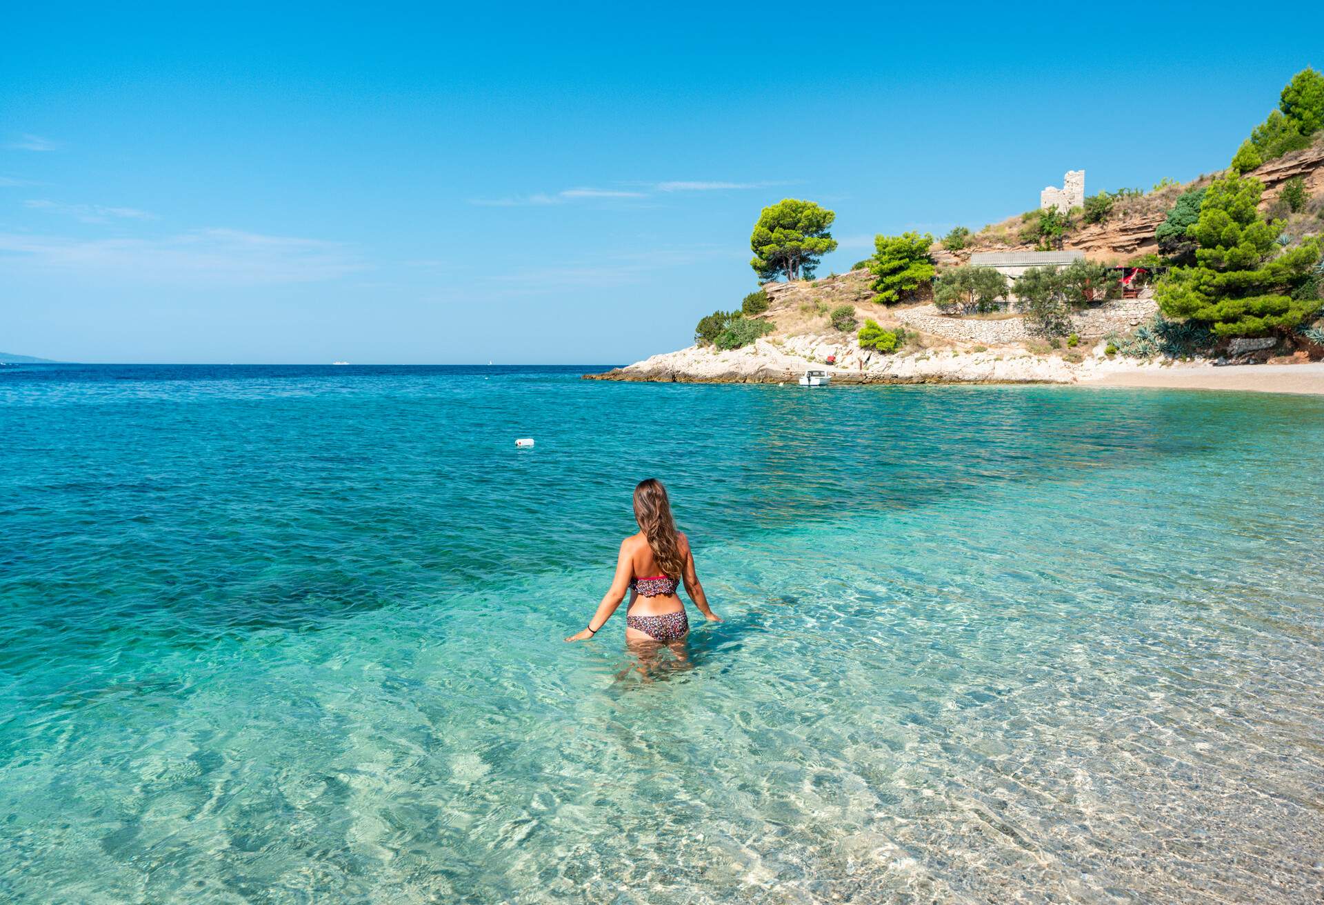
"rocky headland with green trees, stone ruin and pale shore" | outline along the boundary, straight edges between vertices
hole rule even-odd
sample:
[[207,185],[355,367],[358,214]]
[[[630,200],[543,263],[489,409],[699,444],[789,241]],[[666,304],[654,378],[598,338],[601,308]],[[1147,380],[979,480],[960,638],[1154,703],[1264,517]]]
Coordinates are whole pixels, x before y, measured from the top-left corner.
[[[940,240],[906,232],[816,278],[835,219],[784,199],[753,227],[760,286],[694,345],[596,380],[1121,383],[1324,392],[1324,74],[1307,68],[1230,166],[1086,195]],[[1268,368],[1215,370],[1221,364]],[[1238,374],[1233,379],[1234,374]]]

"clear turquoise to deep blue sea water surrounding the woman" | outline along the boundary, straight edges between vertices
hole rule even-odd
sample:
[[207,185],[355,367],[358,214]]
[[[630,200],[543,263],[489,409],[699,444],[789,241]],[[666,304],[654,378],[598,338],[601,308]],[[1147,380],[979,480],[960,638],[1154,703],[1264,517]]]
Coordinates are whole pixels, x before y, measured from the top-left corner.
[[0,900],[1324,896],[1324,400],[580,370],[0,374]]

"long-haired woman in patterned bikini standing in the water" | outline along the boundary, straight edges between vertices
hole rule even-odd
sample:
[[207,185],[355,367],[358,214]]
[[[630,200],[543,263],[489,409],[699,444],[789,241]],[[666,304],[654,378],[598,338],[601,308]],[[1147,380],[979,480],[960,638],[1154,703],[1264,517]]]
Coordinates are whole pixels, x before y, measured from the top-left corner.
[[602,625],[632,591],[625,612],[625,640],[638,644],[673,644],[685,639],[690,620],[675,588],[685,582],[686,594],[704,619],[720,623],[694,571],[690,542],[675,530],[666,488],[655,478],[639,481],[634,488],[634,521],[639,533],[621,541],[616,558],[616,578],[588,620],[588,628],[571,635],[567,641],[584,641],[602,631]]

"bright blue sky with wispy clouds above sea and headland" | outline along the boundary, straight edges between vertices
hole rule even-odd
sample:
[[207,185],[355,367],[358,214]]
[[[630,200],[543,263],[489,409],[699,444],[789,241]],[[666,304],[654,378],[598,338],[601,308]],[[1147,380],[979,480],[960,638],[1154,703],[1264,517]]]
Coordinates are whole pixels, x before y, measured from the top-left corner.
[[1324,66],[1312,4],[1254,36],[1207,3],[629,5],[7,11],[0,350],[634,360],[755,288],[765,204],[835,211],[843,270],[1068,168],[1217,170]]

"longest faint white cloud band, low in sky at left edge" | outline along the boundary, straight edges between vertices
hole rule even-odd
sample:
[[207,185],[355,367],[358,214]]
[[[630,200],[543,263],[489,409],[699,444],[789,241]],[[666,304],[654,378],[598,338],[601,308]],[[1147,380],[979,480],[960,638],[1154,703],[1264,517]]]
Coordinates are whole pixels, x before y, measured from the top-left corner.
[[238,229],[97,240],[0,233],[0,269],[23,266],[134,284],[209,285],[318,282],[367,269],[340,242]]

